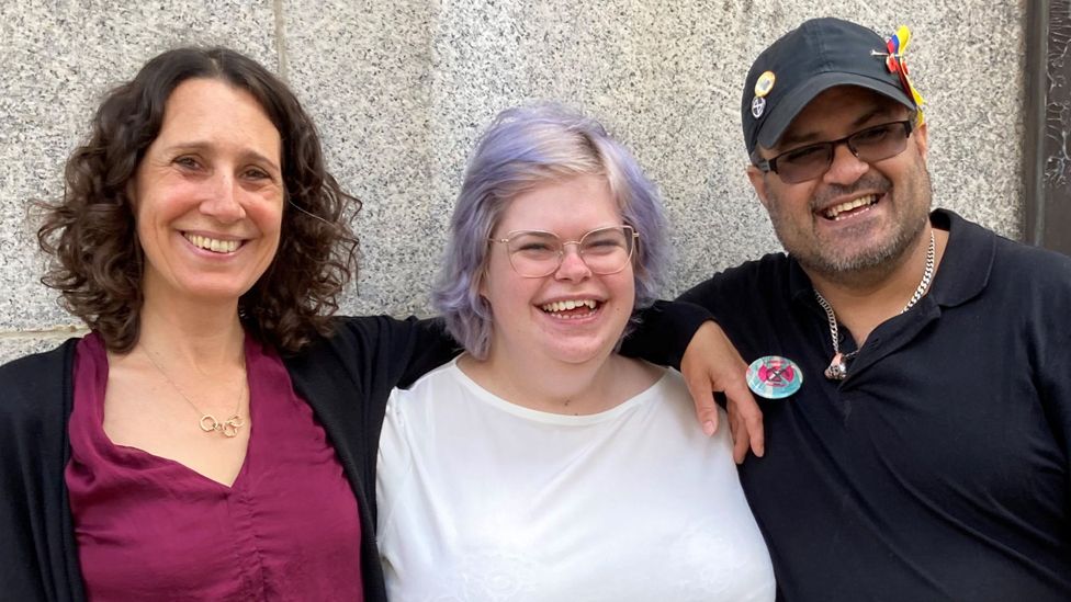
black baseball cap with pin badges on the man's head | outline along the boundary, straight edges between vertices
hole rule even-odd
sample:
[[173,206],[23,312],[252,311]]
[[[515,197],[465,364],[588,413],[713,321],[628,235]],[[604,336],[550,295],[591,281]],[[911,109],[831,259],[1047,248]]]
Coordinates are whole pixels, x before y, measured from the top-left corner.
[[841,19],[812,19],[781,36],[744,80],[740,112],[748,156],[757,145],[773,148],[814,96],[836,86],[867,88],[916,109],[886,65],[888,52],[886,38]]

